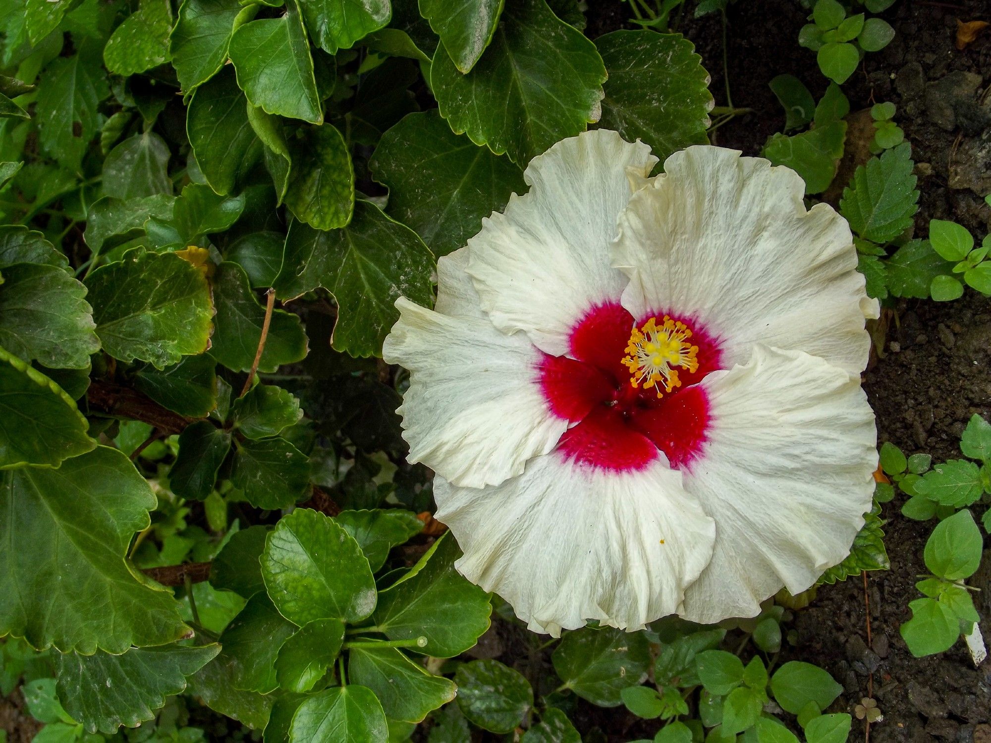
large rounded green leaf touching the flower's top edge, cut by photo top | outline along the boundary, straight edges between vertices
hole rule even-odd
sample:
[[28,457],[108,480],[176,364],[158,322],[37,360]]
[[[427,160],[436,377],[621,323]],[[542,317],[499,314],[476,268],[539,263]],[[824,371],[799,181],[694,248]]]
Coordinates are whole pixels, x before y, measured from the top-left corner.
[[595,45],[544,0],[509,0],[471,72],[462,74],[441,46],[430,74],[451,129],[525,163],[599,119],[606,67]]

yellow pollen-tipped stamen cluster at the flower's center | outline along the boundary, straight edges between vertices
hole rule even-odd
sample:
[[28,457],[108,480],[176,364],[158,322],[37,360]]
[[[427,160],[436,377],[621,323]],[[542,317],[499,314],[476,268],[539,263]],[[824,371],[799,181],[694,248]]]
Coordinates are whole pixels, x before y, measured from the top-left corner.
[[[689,343],[692,331],[680,320],[664,316],[661,325],[652,317],[639,328],[633,328],[626,346],[623,365],[630,371],[634,387],[654,387],[657,396],[682,384],[678,369],[698,371],[696,358],[699,347]],[[662,390],[663,386],[663,390]]]

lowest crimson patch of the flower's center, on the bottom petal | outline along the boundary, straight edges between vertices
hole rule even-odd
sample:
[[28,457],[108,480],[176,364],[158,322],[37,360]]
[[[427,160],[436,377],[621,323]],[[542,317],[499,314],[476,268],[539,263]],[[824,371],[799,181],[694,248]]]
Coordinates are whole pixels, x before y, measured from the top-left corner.
[[597,407],[558,444],[565,459],[610,472],[635,472],[657,459],[657,448],[615,407]]

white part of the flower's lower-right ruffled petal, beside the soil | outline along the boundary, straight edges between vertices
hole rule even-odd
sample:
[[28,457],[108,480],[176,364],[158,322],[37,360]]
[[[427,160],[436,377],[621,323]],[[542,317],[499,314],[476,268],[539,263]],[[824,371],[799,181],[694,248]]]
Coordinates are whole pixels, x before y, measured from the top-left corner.
[[685,489],[716,519],[713,560],[682,616],[753,616],[782,586],[805,590],[849,553],[870,509],[874,414],[859,378],[824,360],[756,346],[716,371],[709,442]]

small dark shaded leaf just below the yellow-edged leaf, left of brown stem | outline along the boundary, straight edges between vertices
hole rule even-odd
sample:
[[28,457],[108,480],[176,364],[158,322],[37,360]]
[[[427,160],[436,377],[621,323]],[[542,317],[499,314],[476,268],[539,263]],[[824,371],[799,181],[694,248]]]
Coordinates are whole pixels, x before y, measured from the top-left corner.
[[165,369],[147,365],[134,374],[134,386],[165,408],[203,418],[217,406],[217,363],[207,354],[186,356]]

